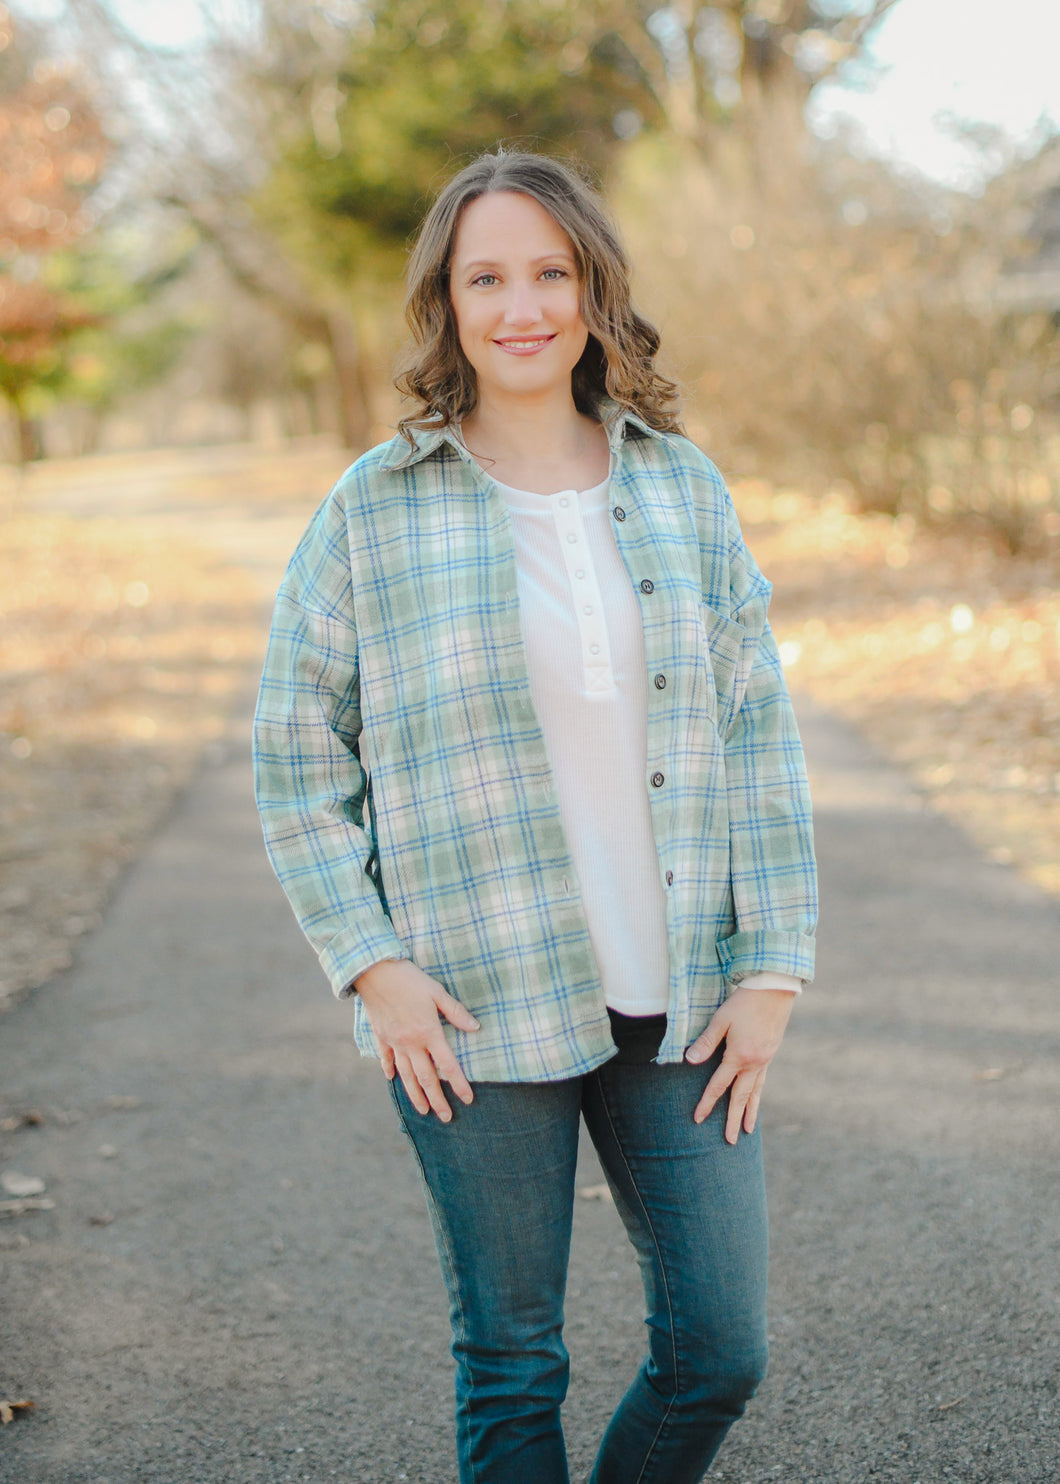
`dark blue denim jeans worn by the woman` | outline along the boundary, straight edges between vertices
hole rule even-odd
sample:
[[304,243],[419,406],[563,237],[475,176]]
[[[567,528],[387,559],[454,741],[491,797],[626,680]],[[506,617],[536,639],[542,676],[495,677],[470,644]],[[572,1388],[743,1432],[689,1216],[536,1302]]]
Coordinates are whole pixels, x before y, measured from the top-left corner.
[[450,1296],[462,1484],[567,1484],[563,1301],[583,1116],[640,1261],[649,1353],[589,1484],[696,1484],[766,1364],[757,1132],[692,1122],[716,1061],[658,1066],[665,1017],[612,1014],[618,1055],[563,1082],[478,1082],[453,1122],[390,1083]]

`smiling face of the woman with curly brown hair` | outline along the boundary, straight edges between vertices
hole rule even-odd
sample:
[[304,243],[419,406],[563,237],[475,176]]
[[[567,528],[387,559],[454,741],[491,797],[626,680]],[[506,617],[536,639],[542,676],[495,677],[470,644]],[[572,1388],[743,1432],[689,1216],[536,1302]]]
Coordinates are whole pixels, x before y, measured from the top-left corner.
[[570,392],[588,329],[578,260],[563,227],[517,191],[465,208],[453,243],[450,297],[480,396],[496,401]]

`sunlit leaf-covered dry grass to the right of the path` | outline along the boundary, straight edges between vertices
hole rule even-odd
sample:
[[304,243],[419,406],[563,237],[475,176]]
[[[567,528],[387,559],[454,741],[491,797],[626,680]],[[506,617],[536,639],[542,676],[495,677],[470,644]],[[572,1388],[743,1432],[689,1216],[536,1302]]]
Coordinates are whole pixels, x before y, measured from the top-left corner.
[[736,490],[791,684],[855,721],[998,861],[1060,895],[1056,558]]

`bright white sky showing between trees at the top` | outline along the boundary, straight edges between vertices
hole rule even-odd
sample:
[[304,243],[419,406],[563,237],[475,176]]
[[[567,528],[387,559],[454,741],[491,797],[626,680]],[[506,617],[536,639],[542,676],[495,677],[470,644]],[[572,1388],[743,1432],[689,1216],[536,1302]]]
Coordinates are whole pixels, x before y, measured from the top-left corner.
[[[48,10],[52,0],[36,0]],[[190,40],[203,7],[238,16],[241,0],[117,0],[154,45]],[[1002,18],[1002,19],[999,19]],[[822,85],[815,128],[854,120],[873,153],[947,186],[974,188],[983,160],[946,119],[992,123],[1017,144],[1042,119],[1060,129],[1060,0],[900,0],[879,27],[870,86]]]

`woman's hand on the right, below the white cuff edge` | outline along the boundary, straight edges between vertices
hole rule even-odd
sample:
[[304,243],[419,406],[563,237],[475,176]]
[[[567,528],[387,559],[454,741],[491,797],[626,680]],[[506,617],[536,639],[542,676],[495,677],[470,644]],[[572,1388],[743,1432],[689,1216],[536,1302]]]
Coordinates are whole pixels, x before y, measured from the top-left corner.
[[729,1088],[724,1137],[730,1144],[739,1138],[741,1123],[748,1134],[754,1132],[766,1068],[784,1039],[794,997],[794,990],[741,990],[738,985],[684,1052],[687,1061],[707,1061],[724,1042],[722,1064],[692,1117],[702,1123]]

